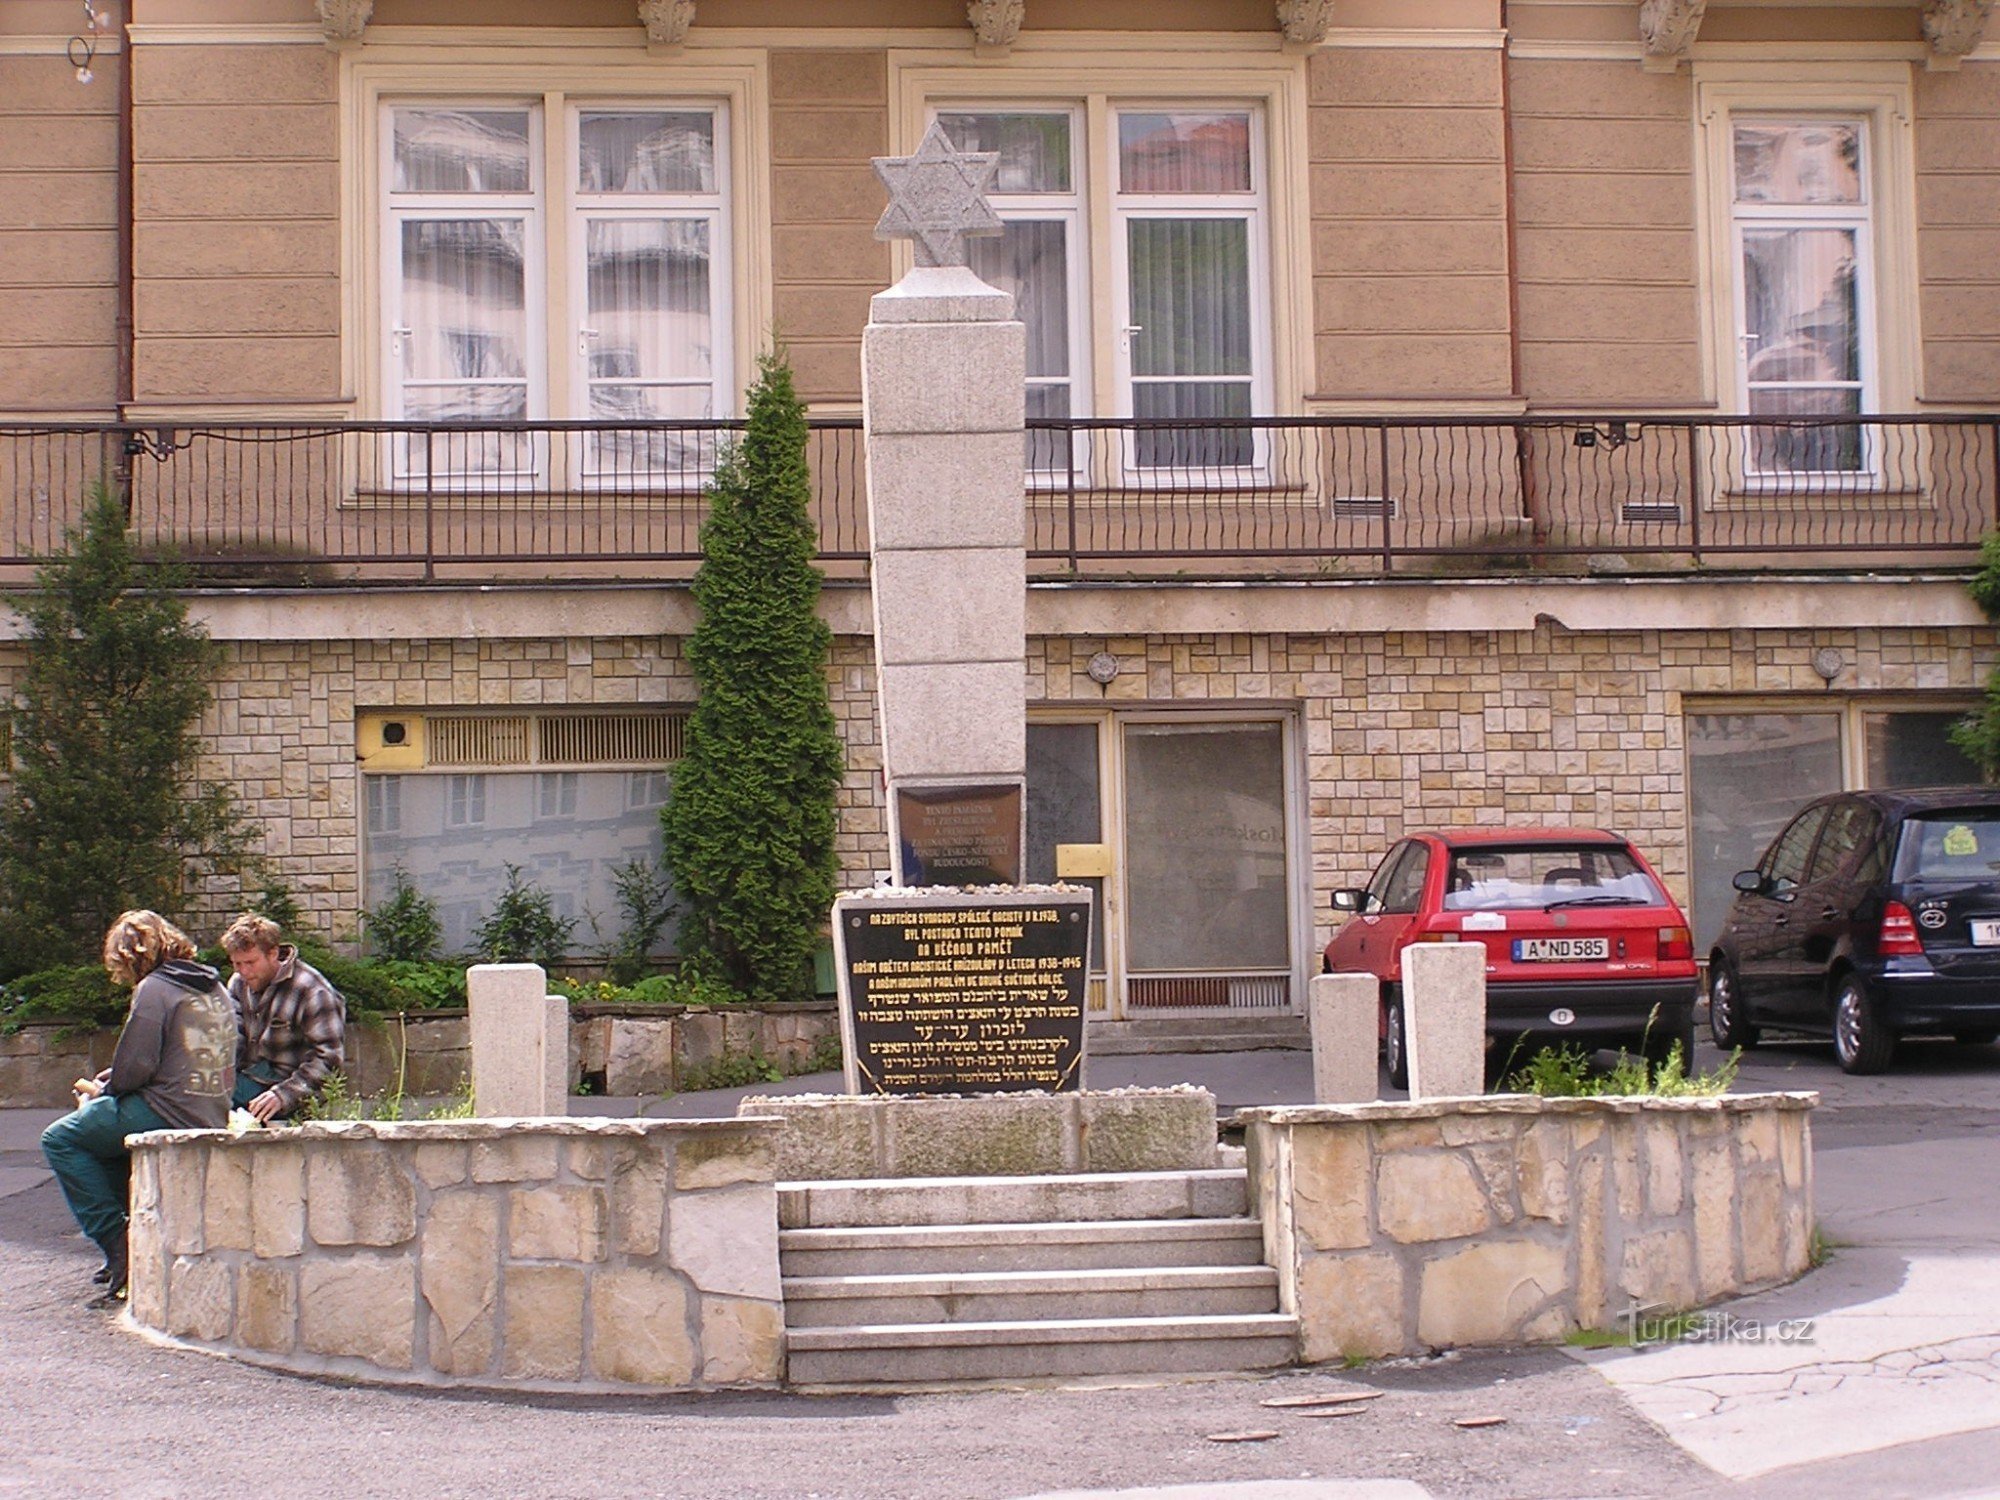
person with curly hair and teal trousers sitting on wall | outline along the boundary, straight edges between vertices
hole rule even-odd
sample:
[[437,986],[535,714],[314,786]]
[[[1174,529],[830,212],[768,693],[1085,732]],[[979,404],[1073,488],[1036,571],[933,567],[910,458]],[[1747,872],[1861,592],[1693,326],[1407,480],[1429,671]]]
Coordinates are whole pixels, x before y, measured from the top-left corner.
[[76,1224],[104,1252],[106,1298],[126,1290],[132,1154],[146,1130],[220,1130],[236,1086],[236,1004],[194,942],[158,912],[124,912],[104,934],[104,970],[132,986],[112,1066],[74,1084],[76,1110],[42,1132],[42,1156]]

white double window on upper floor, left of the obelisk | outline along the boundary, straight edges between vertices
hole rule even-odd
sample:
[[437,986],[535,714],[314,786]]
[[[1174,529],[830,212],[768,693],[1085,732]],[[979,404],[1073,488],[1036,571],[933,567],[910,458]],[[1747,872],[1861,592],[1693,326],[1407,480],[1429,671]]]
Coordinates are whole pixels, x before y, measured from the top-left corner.
[[[386,106],[388,416],[412,422],[712,418],[730,402],[722,106]],[[544,134],[568,182],[552,192]],[[548,316],[552,268],[568,286]],[[556,330],[556,332],[550,332]],[[550,344],[554,344],[550,348]],[[696,444],[700,446],[700,444]],[[688,442],[592,434],[556,456],[528,434],[410,440],[398,472],[604,478],[686,460]]]

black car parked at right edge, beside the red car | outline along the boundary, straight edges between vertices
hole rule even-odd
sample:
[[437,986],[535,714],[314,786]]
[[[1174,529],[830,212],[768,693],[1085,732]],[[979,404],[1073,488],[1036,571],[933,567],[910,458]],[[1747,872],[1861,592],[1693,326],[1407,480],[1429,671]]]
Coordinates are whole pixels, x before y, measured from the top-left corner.
[[2000,788],[1824,796],[1734,884],[1708,958],[1718,1046],[1812,1032],[1882,1072],[1904,1034],[2000,1036]]

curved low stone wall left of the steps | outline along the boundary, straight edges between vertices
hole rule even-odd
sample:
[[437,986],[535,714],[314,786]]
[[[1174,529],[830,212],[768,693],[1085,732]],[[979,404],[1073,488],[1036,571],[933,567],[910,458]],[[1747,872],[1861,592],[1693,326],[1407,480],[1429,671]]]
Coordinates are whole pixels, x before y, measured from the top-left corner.
[[132,1142],[130,1316],[304,1374],[784,1378],[772,1126],[438,1120]]

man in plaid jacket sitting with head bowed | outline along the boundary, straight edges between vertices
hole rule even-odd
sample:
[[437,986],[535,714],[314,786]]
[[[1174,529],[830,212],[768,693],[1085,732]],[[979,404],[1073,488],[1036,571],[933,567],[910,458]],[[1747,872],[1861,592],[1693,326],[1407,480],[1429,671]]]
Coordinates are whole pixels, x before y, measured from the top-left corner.
[[236,976],[234,1104],[258,1120],[284,1120],[320,1092],[340,1066],[348,1002],[298,948],[278,940],[278,924],[244,912],[222,934]]

